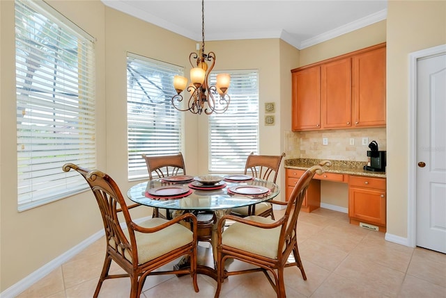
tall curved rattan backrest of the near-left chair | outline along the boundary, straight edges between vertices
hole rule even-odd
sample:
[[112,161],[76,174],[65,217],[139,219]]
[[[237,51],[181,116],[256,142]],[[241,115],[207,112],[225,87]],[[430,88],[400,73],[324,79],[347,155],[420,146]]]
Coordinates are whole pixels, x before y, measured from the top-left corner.
[[[138,254],[136,238],[132,229],[132,219],[116,182],[103,172],[98,170],[91,171],[72,163],[63,165],[62,169],[64,172],[75,169],[84,176],[98,202],[104,224],[105,237],[107,238],[107,246],[109,249],[114,249],[116,254],[121,255],[123,260],[126,259],[133,263],[134,266],[137,266]],[[121,212],[128,227],[128,238],[119,222],[118,213]]]

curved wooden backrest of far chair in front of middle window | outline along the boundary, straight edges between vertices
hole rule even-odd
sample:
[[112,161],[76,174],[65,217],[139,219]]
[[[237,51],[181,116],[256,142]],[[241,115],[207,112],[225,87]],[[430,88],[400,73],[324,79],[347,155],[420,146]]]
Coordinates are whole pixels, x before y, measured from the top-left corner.
[[[175,155],[164,156],[146,156],[146,154],[142,154],[142,158],[146,160],[149,179],[186,174],[184,158],[181,152]],[[156,176],[154,177],[154,175]]]

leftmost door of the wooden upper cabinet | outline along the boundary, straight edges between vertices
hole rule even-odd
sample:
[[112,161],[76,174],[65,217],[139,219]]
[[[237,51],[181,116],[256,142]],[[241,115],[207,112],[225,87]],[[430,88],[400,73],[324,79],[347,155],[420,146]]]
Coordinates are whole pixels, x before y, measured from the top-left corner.
[[293,72],[293,131],[321,129],[321,67]]

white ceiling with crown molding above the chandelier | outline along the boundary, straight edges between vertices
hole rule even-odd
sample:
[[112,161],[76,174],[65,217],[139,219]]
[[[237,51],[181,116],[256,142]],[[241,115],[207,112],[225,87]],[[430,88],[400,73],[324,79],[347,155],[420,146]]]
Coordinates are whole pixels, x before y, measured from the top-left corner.
[[[102,0],[151,24],[201,41],[200,0]],[[305,49],[387,17],[387,0],[206,0],[207,40],[281,38]]]

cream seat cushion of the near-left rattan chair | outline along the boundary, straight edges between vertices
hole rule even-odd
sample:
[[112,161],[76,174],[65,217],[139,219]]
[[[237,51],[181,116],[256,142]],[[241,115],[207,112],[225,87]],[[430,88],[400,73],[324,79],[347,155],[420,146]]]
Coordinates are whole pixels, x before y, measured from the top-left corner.
[[[139,226],[153,228],[154,226],[164,224],[164,222],[169,222],[169,220],[155,217],[141,222]],[[128,238],[129,235],[127,229],[124,233]],[[169,251],[187,245],[194,240],[192,231],[181,224],[172,224],[155,233],[139,233],[135,231],[134,235],[137,241],[139,264],[146,263],[148,260],[153,260],[158,256],[167,254]],[[130,261],[132,260],[132,256],[130,256],[128,251],[125,251],[125,258]]]

